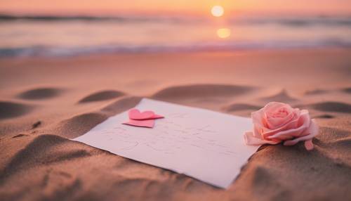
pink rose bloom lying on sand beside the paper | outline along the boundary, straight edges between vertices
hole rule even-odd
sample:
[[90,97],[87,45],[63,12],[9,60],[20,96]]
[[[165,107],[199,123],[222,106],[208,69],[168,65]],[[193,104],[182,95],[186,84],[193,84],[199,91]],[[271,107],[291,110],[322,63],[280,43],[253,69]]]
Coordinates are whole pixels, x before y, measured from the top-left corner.
[[247,145],[277,144],[295,145],[305,141],[307,150],[313,149],[312,138],[318,134],[318,126],[310,118],[308,110],[291,108],[285,103],[271,102],[251,113],[253,132],[244,135]]

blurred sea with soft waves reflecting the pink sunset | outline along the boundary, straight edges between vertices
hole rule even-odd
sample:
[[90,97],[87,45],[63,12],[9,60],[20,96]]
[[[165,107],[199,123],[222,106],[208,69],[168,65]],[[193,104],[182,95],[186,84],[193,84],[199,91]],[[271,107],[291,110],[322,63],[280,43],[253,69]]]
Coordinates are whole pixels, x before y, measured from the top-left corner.
[[351,16],[0,15],[0,56],[351,47]]

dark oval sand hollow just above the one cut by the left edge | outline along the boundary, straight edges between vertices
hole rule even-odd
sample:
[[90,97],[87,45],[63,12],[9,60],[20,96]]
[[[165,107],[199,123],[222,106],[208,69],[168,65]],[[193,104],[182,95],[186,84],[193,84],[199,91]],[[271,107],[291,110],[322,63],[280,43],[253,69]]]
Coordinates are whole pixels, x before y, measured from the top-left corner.
[[62,93],[62,89],[56,88],[37,88],[30,89],[28,91],[23,91],[18,94],[18,98],[26,99],[26,100],[40,100],[46,98],[53,98]]

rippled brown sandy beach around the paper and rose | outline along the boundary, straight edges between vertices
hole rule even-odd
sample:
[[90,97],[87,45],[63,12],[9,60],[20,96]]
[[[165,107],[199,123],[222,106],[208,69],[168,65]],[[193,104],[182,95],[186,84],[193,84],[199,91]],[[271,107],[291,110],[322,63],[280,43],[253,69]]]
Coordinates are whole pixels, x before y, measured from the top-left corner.
[[[351,200],[350,77],[350,48],[0,58],[0,200]],[[263,145],[227,190],[69,140],[143,97],[281,101],[320,132],[310,152]]]

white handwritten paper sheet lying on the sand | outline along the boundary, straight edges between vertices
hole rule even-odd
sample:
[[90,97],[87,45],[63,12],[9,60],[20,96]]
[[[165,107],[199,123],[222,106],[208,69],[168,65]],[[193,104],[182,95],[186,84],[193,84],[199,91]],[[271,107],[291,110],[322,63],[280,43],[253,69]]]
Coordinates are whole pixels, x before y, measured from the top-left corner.
[[152,110],[154,128],[122,124],[128,111],[110,117],[74,138],[123,157],[171,169],[213,186],[227,188],[258,147],[244,143],[251,119],[144,98],[135,106]]

